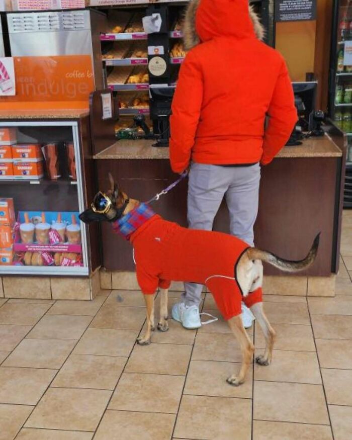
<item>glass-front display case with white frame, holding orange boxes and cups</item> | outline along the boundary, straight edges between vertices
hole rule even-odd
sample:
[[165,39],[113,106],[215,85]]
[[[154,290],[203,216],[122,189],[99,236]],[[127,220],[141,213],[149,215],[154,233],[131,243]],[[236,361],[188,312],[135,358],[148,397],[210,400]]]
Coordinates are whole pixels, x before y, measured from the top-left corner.
[[0,275],[89,275],[77,121],[0,121]]

